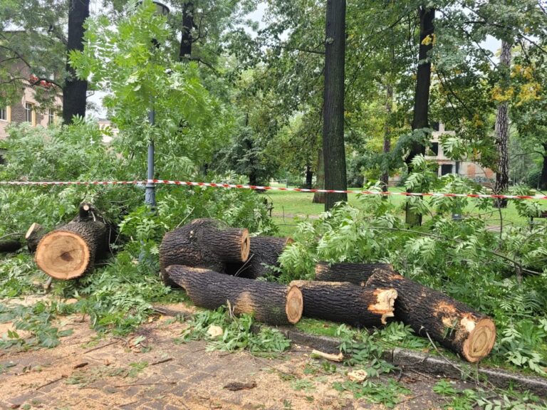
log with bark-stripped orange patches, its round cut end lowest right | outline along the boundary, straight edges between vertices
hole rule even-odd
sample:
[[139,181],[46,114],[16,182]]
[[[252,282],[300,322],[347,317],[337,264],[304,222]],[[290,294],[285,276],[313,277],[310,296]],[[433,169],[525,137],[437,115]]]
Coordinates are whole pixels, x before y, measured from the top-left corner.
[[395,318],[469,362],[479,362],[494,347],[494,321],[437,290],[385,270],[377,270],[367,286],[396,289]]

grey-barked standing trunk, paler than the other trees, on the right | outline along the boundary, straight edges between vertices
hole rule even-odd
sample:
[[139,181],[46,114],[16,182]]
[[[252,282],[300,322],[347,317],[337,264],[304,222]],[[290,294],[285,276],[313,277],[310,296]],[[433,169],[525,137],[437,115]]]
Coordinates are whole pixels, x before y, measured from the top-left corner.
[[[511,66],[511,43],[501,41],[500,70],[503,71],[504,83],[508,85]],[[496,114],[496,147],[498,167],[496,169],[496,186],[494,192],[503,194],[509,188],[509,103],[501,102]],[[507,199],[494,199],[494,206],[506,208]]]

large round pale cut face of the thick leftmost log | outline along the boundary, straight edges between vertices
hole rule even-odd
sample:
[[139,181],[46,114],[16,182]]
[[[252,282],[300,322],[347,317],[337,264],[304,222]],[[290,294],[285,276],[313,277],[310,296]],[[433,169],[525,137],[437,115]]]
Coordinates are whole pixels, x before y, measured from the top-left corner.
[[36,248],[38,268],[57,279],[78,278],[88,268],[89,246],[71,231],[53,231]]

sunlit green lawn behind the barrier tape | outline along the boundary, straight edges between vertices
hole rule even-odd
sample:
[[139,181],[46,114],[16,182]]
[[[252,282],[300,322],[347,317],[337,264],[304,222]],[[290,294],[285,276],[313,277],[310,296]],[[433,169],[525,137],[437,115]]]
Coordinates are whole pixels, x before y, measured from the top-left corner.
[[[272,184],[273,186],[284,186],[278,184]],[[291,187],[291,186],[289,186]],[[358,189],[355,189],[358,190]],[[403,191],[400,187],[390,188],[392,192]],[[296,229],[298,219],[306,218],[307,216],[314,217],[321,214],[324,211],[323,204],[313,204],[313,194],[306,192],[293,192],[293,191],[268,191],[264,194],[270,201],[273,202],[273,221],[279,227],[279,234],[281,236],[291,235]],[[405,196],[390,196],[388,199],[395,206],[400,206],[400,216],[404,217],[404,203]],[[426,198],[426,201],[430,201],[430,198]],[[355,194],[348,194],[348,201],[350,204],[358,204],[359,199]],[[546,201],[540,201],[543,208],[547,208]],[[464,215],[479,215],[490,226],[500,226],[500,221],[503,221],[503,225],[509,224],[526,225],[529,220],[522,218],[516,211],[514,201],[509,201],[509,206],[506,209],[501,209],[500,214],[497,209],[489,209],[489,211],[483,211],[478,208],[479,201],[474,199],[469,200],[469,204],[464,209]],[[427,220],[427,216],[424,216],[424,220]]]

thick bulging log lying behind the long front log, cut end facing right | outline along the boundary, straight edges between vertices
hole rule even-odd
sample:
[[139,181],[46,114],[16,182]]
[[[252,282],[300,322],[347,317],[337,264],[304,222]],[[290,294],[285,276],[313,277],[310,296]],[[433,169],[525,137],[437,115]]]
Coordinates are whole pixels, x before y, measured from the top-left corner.
[[249,231],[229,228],[215,219],[195,219],[165,233],[160,246],[161,277],[173,285],[165,269],[171,265],[207,268],[224,273],[226,263],[249,258]]

